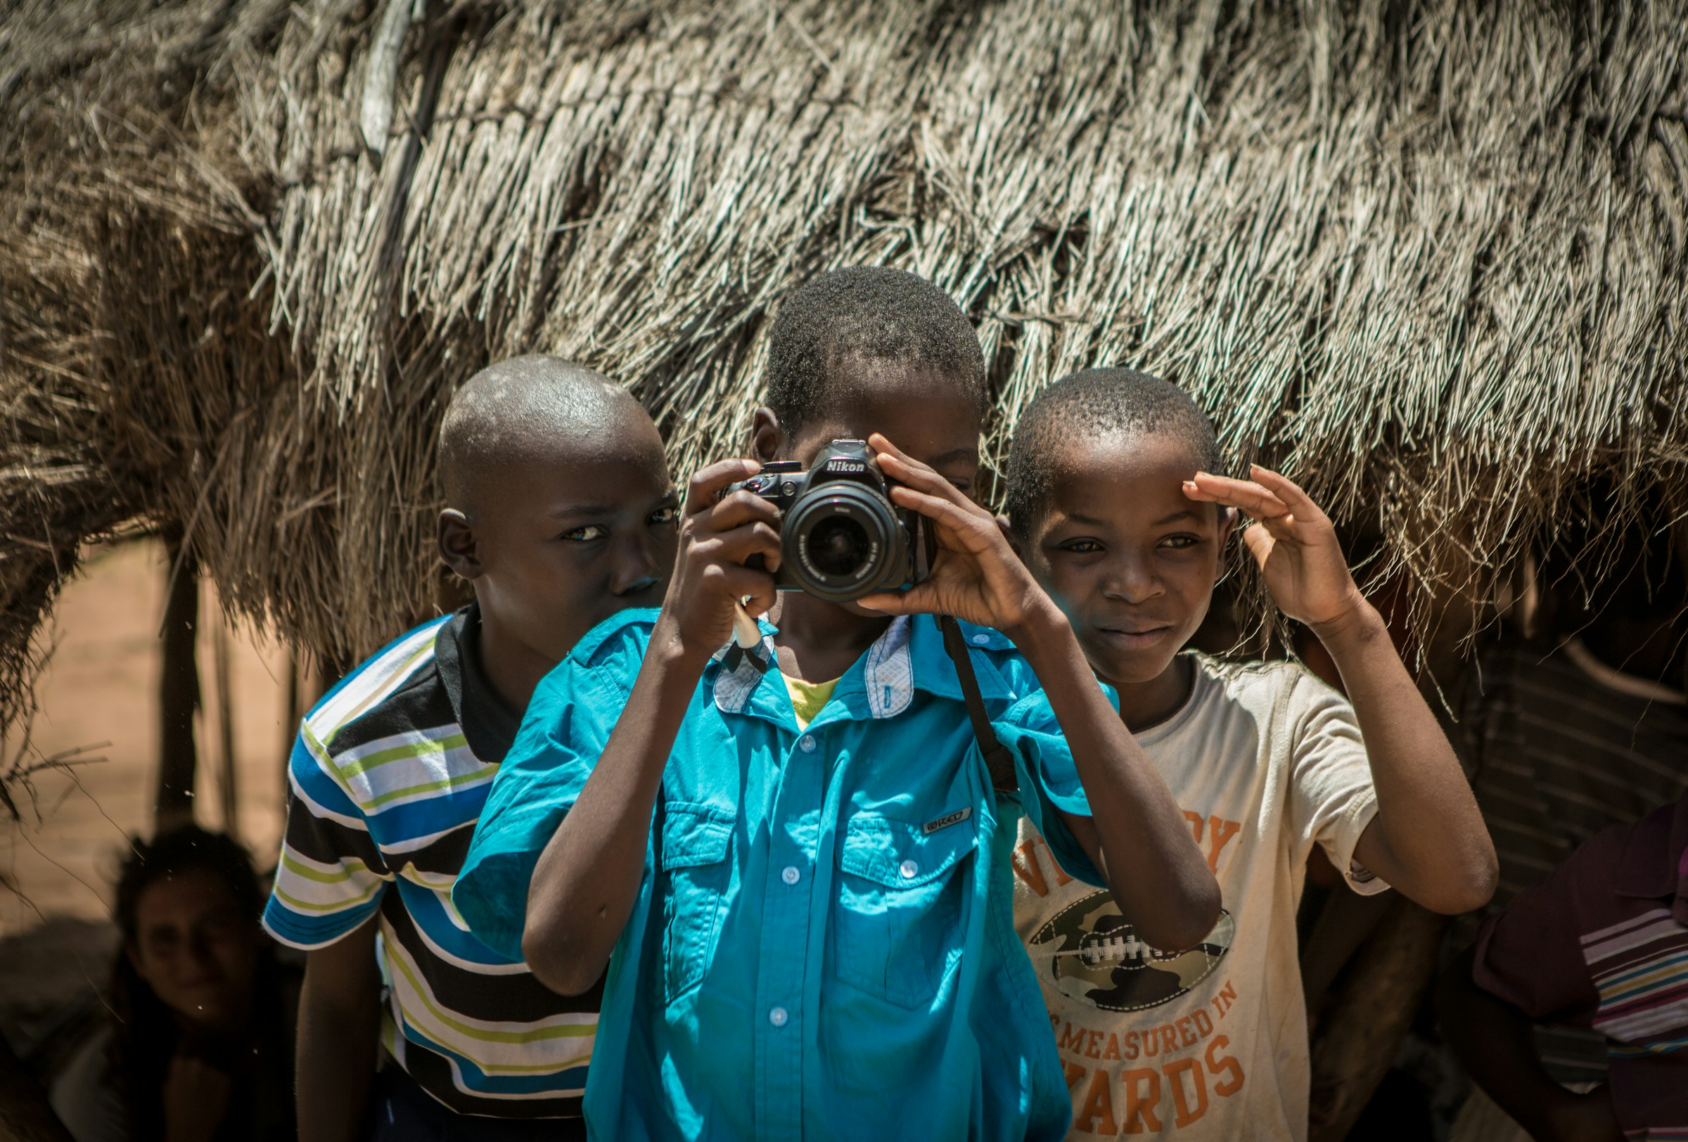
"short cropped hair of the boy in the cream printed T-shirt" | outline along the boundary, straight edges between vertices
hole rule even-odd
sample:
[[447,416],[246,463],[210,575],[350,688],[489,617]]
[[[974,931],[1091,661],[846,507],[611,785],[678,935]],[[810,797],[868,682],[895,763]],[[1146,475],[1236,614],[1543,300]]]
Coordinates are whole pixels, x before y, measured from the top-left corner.
[[1062,445],[1106,435],[1171,434],[1197,467],[1219,472],[1224,457],[1207,413],[1171,381],[1136,369],[1080,369],[1033,398],[1008,449],[1008,521],[1025,536],[1048,508]]

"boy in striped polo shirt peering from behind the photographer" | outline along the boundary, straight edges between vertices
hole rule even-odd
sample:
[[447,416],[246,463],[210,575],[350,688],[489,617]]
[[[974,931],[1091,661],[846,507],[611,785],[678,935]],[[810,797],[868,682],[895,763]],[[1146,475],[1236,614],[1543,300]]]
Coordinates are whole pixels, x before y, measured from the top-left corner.
[[584,1137],[601,988],[545,988],[469,935],[451,887],[533,687],[599,621],[662,601],[675,489],[645,410],[544,356],[463,386],[439,464],[441,553],[476,601],[363,663],[294,746],[263,923],[309,953],[307,1142]]

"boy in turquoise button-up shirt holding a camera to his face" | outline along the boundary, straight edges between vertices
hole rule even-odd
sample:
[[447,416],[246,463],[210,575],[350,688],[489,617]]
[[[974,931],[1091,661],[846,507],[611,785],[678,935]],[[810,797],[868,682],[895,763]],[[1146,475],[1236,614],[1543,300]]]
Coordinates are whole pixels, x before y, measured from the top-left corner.
[[[868,439],[935,528],[930,577],[776,599],[778,513],[717,501],[760,462],[699,472],[662,611],[604,622],[540,683],[452,899],[557,990],[609,963],[594,1137],[1060,1137],[1065,1083],[1013,935],[1014,816],[1163,946],[1212,926],[1214,879],[1065,617],[967,498],[984,361],[954,302],[885,268],[812,280],[775,322],[768,405],[761,462]],[[771,617],[749,649],[728,646],[741,599]],[[993,789],[932,614],[966,621],[1018,795]]]

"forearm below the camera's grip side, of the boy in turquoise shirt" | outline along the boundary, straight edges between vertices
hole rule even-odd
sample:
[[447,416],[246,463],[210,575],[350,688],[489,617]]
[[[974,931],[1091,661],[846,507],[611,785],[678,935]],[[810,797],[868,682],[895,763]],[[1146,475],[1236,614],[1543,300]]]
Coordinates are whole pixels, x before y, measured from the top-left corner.
[[596,983],[633,914],[662,771],[704,661],[658,621],[603,756],[540,854],[522,953],[555,992],[579,995]]

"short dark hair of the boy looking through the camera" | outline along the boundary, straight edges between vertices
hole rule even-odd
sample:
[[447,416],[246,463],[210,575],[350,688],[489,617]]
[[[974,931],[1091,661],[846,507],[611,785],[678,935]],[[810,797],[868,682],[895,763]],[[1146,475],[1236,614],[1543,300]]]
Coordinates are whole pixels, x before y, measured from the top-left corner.
[[890,267],[851,267],[810,278],[773,319],[768,408],[787,434],[849,396],[832,388],[847,358],[886,361],[952,380],[986,405],[979,334],[949,294]]

